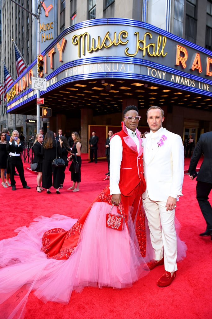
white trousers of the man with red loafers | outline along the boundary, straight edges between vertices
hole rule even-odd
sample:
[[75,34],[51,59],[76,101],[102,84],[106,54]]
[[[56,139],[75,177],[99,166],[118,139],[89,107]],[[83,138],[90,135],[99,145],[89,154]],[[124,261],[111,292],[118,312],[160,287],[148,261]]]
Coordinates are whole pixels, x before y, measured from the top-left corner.
[[175,209],[167,211],[165,202],[152,201],[148,197],[143,199],[143,207],[146,212],[150,239],[155,252],[155,260],[161,260],[164,256],[166,271],[177,270],[177,237],[174,226]]

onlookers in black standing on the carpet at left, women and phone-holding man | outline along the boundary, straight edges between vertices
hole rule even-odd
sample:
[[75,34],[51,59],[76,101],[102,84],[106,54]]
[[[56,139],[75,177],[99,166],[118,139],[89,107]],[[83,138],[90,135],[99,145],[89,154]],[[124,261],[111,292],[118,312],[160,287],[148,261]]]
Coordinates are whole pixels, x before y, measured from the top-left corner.
[[[24,177],[24,167],[21,159],[21,152],[24,150],[24,139],[20,138],[19,132],[14,130],[12,136],[7,141],[7,134],[0,132],[0,169],[2,186],[4,188],[12,187],[16,190],[15,174],[16,169],[23,188],[30,189]],[[47,194],[51,194],[50,188],[53,186],[56,189],[56,194],[60,194],[60,189],[63,188],[65,180],[65,168],[68,166],[68,161],[78,162],[78,172],[71,171],[72,189],[73,192],[79,191],[81,182],[81,143],[77,132],[73,132],[72,136],[67,140],[62,135],[62,130],[58,130],[58,135],[52,131],[48,131],[45,136],[42,129],[36,135],[32,146],[33,160],[37,167],[36,190],[41,193],[46,190]],[[63,166],[53,166],[52,162],[55,158],[62,158]],[[72,170],[72,165],[70,166]],[[6,181],[5,181],[6,175]],[[10,178],[10,182],[9,182]]]

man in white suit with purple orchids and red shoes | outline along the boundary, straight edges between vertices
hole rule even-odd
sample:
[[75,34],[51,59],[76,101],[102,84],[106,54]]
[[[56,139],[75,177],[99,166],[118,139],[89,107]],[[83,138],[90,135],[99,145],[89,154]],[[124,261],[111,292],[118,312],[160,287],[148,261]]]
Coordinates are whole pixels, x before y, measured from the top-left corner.
[[150,134],[143,139],[144,177],[147,183],[143,193],[150,238],[155,259],[145,266],[154,269],[164,264],[165,274],[157,285],[166,287],[176,277],[177,238],[174,227],[176,202],[182,196],[184,177],[184,147],[181,137],[162,127],[164,111],[152,106],[147,111]]

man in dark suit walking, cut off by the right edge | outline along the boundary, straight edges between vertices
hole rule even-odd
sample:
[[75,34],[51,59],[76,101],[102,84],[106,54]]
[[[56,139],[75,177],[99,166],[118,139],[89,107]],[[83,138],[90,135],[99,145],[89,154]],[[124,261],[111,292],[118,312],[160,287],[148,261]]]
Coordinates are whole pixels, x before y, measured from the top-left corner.
[[[196,166],[202,153],[204,158],[199,174],[197,174]],[[212,189],[212,132],[207,132],[200,136],[191,157],[188,173],[191,180],[197,176],[196,199],[207,224],[206,231],[201,233],[200,236],[212,235],[212,208],[208,201],[208,195]]]

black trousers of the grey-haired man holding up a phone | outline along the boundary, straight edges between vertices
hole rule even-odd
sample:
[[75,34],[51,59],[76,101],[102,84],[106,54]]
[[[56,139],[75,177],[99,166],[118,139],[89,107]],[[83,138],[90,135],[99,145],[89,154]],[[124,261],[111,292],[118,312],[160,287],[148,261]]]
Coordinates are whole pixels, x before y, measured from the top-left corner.
[[22,185],[25,187],[26,184],[26,180],[24,177],[24,166],[23,166],[23,162],[20,156],[10,156],[9,155],[9,167],[10,167],[10,183],[11,186],[15,186],[16,185],[16,181],[14,178],[15,175],[15,168],[18,171],[20,180],[22,182]]

